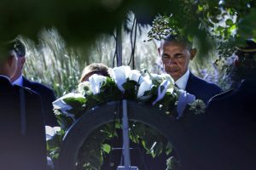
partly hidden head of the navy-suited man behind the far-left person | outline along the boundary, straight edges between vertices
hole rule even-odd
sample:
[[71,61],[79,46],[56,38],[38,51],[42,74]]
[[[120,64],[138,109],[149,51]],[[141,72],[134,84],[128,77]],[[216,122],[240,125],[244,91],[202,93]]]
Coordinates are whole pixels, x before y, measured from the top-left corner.
[[25,48],[25,45],[19,39],[13,40],[11,44],[12,44],[12,49],[15,50],[15,53],[18,56],[17,70],[15,71],[15,76],[11,78],[11,82],[14,82],[22,74],[22,69],[26,62],[26,58],[25,58],[26,48]]

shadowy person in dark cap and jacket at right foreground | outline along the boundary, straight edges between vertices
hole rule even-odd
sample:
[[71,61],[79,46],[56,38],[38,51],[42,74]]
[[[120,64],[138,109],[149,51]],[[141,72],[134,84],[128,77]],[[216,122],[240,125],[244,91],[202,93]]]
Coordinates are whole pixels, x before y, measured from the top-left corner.
[[240,85],[212,98],[206,113],[212,138],[218,139],[211,150],[218,157],[209,157],[218,162],[215,169],[256,167],[256,42],[247,40],[236,55],[239,65],[236,61],[233,71]]

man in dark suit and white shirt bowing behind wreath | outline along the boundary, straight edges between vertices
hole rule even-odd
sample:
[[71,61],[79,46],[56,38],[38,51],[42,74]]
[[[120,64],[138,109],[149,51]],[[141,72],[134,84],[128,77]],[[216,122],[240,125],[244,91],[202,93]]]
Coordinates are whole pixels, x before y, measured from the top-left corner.
[[196,99],[202,99],[205,103],[212,96],[222,92],[216,84],[195,77],[189,71],[189,60],[194,59],[196,54],[196,49],[192,48],[189,42],[169,35],[161,42],[159,53],[166,73],[174,79],[177,88],[194,94]]

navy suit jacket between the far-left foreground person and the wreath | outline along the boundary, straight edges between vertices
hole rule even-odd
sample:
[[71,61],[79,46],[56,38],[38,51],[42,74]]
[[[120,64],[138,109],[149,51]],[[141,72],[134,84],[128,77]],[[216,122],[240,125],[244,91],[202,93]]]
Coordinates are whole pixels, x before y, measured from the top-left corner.
[[53,111],[52,102],[55,101],[55,94],[53,90],[38,82],[31,82],[25,77],[23,77],[23,86],[26,88],[31,88],[33,91],[41,96],[44,105],[45,125],[48,125],[50,127],[59,126]]

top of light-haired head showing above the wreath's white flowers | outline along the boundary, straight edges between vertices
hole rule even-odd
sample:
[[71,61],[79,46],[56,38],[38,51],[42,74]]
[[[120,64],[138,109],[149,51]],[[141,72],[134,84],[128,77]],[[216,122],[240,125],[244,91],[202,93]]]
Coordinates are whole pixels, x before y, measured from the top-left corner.
[[102,63],[92,63],[90,65],[87,65],[84,68],[84,71],[82,73],[82,76],[81,76],[79,82],[88,81],[89,77],[94,74],[102,75],[104,77],[109,77],[108,66],[104,65]]

